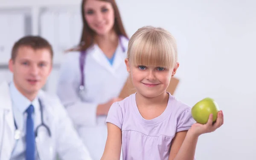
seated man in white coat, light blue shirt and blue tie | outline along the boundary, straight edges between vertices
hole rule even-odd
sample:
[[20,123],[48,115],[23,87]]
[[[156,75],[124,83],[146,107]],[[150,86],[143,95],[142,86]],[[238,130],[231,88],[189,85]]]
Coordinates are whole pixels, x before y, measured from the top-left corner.
[[92,160],[58,98],[41,90],[52,57],[39,36],[13,46],[13,81],[0,84],[0,160]]

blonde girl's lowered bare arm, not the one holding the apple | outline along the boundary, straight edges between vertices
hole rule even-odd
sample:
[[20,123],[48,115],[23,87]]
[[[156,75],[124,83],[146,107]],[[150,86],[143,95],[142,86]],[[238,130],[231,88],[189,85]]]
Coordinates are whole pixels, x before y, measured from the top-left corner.
[[101,160],[120,160],[122,131],[116,125],[107,123],[108,138]]

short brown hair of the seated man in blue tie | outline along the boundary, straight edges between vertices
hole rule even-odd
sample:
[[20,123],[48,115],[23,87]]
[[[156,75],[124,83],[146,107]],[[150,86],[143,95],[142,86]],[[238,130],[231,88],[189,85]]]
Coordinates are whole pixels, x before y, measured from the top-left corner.
[[53,50],[52,45],[41,36],[24,36],[20,38],[12,47],[12,56],[11,59],[15,62],[15,58],[17,57],[17,51],[20,47],[31,47],[34,50],[38,49],[48,49],[51,57],[53,58]]

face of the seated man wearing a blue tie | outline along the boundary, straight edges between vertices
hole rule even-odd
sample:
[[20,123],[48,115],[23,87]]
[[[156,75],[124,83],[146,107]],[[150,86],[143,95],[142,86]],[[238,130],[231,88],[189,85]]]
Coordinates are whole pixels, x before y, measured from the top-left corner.
[[9,61],[13,81],[27,98],[36,95],[44,86],[52,70],[52,57],[48,49],[20,46],[17,56]]

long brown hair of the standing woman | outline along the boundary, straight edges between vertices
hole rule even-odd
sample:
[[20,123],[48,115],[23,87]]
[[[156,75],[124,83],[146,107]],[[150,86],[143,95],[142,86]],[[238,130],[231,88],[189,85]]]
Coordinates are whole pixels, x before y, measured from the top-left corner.
[[[114,31],[118,36],[125,36],[128,38],[125,28],[122,23],[122,19],[118,10],[118,7],[116,5],[115,0],[101,0],[104,2],[109,2],[111,3],[114,14],[115,14],[115,22],[114,22]],[[82,34],[81,34],[81,39],[80,39],[80,44],[77,46],[77,48],[70,49],[68,51],[86,51],[87,48],[89,48],[91,45],[93,45],[93,38],[95,36],[95,32],[89,27],[87,24],[87,21],[85,20],[85,12],[84,12],[84,4],[86,0],[82,0],[81,4],[81,16],[82,16],[82,21],[83,21],[83,28],[82,28]]]

